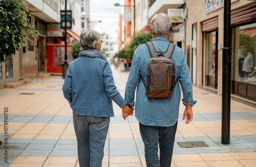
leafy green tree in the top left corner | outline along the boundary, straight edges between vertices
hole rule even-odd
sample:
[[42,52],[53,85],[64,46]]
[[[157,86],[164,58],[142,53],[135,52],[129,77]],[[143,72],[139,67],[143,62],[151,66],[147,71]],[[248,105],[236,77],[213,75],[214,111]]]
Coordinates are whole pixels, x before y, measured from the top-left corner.
[[31,16],[27,9],[24,0],[0,0],[0,62],[30,41],[28,34],[38,35],[27,19],[27,15]]

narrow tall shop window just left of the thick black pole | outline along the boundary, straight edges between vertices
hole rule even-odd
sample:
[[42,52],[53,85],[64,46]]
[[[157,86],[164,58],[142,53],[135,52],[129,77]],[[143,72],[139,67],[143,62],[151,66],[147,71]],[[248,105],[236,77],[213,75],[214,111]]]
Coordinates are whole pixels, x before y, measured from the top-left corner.
[[218,72],[218,32],[206,33],[206,58],[205,58],[205,86],[217,89]]

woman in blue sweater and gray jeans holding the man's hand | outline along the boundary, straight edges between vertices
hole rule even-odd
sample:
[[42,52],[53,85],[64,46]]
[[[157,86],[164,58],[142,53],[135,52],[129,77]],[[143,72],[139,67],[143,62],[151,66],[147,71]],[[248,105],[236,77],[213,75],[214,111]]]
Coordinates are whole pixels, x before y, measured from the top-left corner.
[[73,109],[80,166],[101,166],[110,117],[114,117],[112,100],[123,110],[123,117],[133,115],[115,87],[112,71],[99,51],[101,36],[95,30],[80,34],[81,52],[70,62],[62,87]]

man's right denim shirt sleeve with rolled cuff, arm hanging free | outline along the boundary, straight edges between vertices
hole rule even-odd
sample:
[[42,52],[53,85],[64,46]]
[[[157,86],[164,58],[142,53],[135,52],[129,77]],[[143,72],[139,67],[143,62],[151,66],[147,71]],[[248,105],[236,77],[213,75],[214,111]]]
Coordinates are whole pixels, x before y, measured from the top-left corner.
[[197,101],[193,99],[192,81],[185,56],[182,60],[182,67],[178,78],[183,92],[183,104],[186,105],[189,103],[192,106],[195,105]]

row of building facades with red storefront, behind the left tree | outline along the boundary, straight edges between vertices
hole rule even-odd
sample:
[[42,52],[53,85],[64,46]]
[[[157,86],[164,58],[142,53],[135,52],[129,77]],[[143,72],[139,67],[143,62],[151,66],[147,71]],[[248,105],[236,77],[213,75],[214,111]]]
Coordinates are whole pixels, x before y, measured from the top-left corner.
[[[19,52],[8,57],[6,62],[0,63],[0,89],[11,82],[37,77],[39,73],[54,73],[54,69],[58,69],[57,73],[61,71],[65,31],[60,29],[60,10],[65,9],[65,0],[25,2],[28,4],[28,11],[32,13],[28,20],[36,27],[39,35],[28,35],[31,41],[23,44]],[[71,61],[71,46],[79,40],[82,18],[89,15],[89,0],[67,2],[67,10],[72,10],[72,29],[67,30],[68,59]],[[82,11],[82,7],[86,10]],[[85,26],[88,26],[87,21]]]

